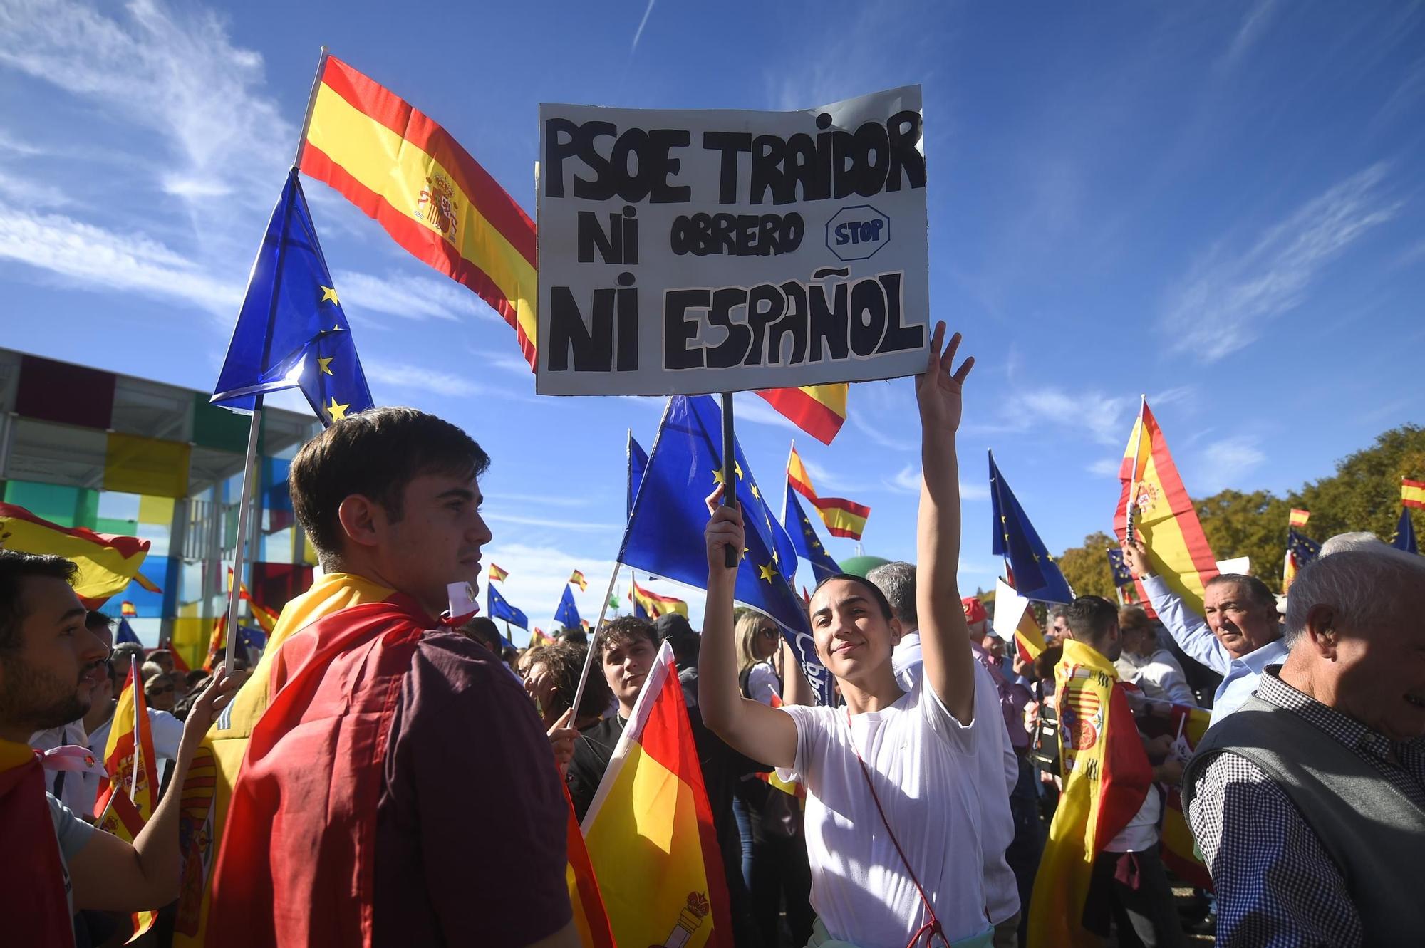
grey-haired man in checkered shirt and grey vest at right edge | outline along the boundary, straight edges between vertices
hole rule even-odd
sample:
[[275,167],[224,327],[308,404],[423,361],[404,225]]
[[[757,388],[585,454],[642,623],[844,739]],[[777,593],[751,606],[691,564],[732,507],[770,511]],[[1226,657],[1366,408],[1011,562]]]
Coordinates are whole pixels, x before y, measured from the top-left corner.
[[1217,944],[1425,944],[1425,559],[1318,559],[1285,638],[1183,777]]

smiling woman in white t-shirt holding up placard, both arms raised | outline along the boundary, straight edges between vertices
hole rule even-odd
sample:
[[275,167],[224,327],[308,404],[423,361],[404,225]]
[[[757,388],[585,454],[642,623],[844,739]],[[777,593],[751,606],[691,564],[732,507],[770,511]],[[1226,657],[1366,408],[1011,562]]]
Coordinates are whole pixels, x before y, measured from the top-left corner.
[[[960,594],[960,389],[973,366],[950,372],[960,336],[942,352],[935,327],[921,407],[921,507],[916,609],[923,665],[902,688],[891,665],[901,638],[891,605],[859,576],[821,582],[811,599],[817,653],[836,676],[844,707],[768,707],[738,692],[732,641],[742,518],[717,507],[707,528],[708,599],[698,703],[703,720],[744,754],[807,787],[811,945],[905,948],[989,945],[975,773],[982,725],[973,719],[975,669]],[[717,502],[718,495],[710,498]],[[993,725],[995,722],[990,722]]]

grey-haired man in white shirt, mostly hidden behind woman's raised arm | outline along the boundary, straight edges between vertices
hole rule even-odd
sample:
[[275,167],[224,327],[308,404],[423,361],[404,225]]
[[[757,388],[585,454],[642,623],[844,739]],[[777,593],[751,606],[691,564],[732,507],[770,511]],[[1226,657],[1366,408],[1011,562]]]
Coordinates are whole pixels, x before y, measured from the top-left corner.
[[[915,612],[915,567],[908,562],[891,562],[866,574],[891,604],[891,612],[901,623],[901,641],[891,653],[901,686],[911,690],[913,676],[919,675],[921,633]],[[972,641],[973,633],[972,633]],[[990,726],[976,744],[975,789],[979,794],[980,847],[985,858],[985,904],[989,921],[995,925],[995,947],[1013,948],[1019,942],[1020,897],[1005,851],[1015,838],[1015,817],[1010,813],[1009,794],[1019,780],[1019,757],[1009,742],[1009,732],[1002,725],[999,692],[989,672],[975,663],[975,716]],[[1003,786],[1003,791],[1000,787]]]

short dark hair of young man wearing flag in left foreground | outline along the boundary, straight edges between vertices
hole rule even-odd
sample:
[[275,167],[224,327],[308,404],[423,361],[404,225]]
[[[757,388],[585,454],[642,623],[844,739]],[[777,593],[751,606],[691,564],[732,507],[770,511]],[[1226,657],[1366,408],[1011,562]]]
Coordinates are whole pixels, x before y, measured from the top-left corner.
[[342,551],[336,508],[352,494],[380,504],[390,520],[405,515],[406,487],[422,474],[475,480],[490,455],[469,434],[415,409],[368,409],[348,416],[302,446],[288,484],[292,510],[322,557]]

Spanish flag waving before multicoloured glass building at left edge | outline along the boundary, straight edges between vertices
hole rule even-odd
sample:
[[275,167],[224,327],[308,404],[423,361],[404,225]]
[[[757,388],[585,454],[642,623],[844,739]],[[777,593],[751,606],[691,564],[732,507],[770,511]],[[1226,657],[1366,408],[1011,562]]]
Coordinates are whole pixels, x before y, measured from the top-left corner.
[[0,504],[0,548],[73,559],[80,568],[74,592],[86,609],[100,608],[137,579],[148,555],[147,539],[60,527],[14,504]]

